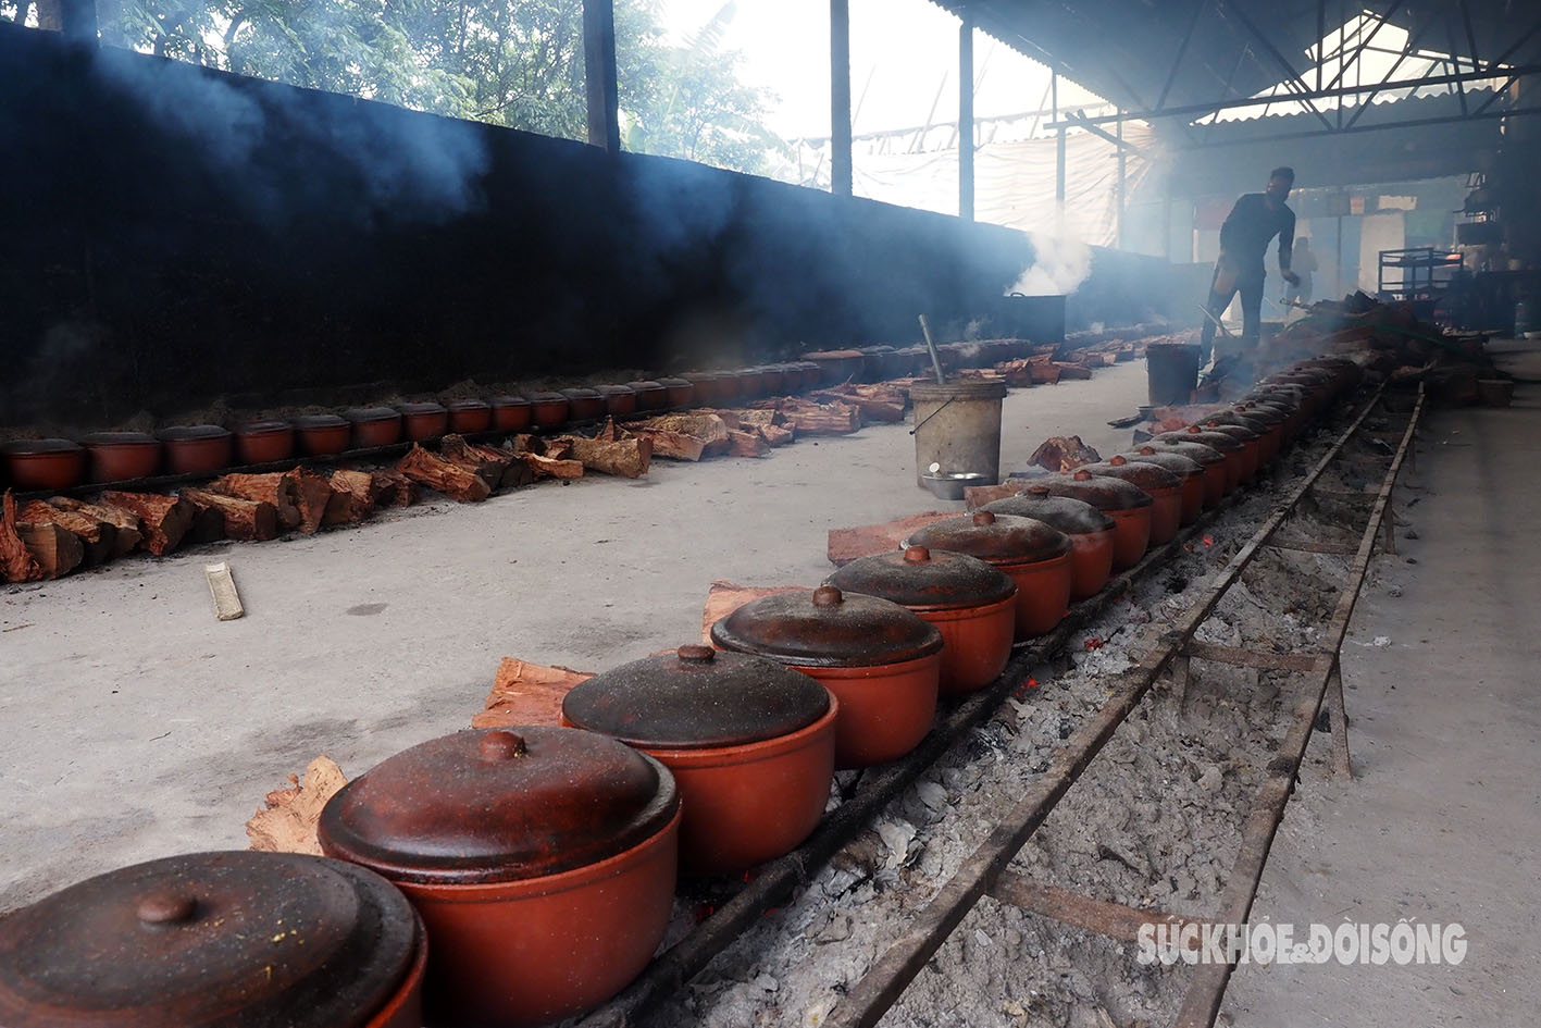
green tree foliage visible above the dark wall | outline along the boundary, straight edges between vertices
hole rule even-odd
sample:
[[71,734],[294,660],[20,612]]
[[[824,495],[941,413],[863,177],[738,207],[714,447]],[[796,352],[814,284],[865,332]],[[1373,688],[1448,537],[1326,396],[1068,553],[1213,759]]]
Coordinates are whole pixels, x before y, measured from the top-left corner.
[[[14,3],[14,0],[6,0]],[[245,76],[587,137],[582,0],[99,0],[103,40]],[[667,46],[660,0],[616,0],[629,149],[763,173],[767,96],[721,49],[727,3]]]

